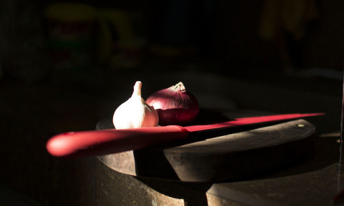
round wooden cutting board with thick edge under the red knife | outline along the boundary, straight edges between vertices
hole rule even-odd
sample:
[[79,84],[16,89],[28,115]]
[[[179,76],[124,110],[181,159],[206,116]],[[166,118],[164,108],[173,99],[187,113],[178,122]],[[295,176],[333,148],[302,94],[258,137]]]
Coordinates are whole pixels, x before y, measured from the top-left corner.
[[[267,114],[270,113],[232,111],[229,115],[219,115],[202,111],[195,124]],[[114,126],[108,119],[99,122],[96,128]],[[197,133],[185,141],[104,155],[98,159],[112,170],[132,176],[187,182],[250,179],[312,157],[314,133],[315,127],[310,122],[297,119],[263,127],[250,126],[230,134]]]

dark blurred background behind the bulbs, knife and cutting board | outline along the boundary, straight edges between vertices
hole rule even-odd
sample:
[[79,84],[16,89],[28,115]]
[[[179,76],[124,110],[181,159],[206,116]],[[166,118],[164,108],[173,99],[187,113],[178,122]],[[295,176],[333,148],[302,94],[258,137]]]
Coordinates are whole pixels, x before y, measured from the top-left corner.
[[[56,159],[52,135],[93,130],[127,100],[179,81],[219,111],[326,112],[338,131],[340,0],[0,2],[1,198],[95,205],[93,161]],[[92,182],[92,181],[91,181]]]

